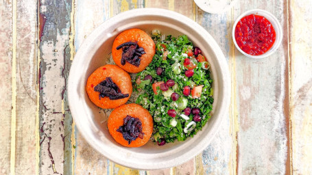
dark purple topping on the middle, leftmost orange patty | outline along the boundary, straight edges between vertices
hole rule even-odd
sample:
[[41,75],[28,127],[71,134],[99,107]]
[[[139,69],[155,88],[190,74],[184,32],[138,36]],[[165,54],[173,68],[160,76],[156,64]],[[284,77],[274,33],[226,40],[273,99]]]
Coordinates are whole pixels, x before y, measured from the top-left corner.
[[99,99],[108,96],[110,100],[118,100],[126,98],[129,94],[121,94],[121,90],[118,85],[112,82],[112,78],[106,77],[104,81],[94,87],[95,92],[99,92]]

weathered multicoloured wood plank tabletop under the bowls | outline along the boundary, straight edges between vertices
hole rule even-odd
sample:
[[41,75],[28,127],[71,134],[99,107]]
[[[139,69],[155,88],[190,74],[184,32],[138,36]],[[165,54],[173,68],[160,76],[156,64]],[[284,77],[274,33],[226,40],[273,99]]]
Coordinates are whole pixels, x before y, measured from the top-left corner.
[[[134,8],[165,8],[202,25],[228,60],[228,116],[202,154],[167,170],[130,170],[97,153],[75,128],[67,77],[84,39]],[[232,25],[254,8],[283,27],[278,51],[243,56]],[[192,0],[0,1],[0,174],[312,174],[312,1],[238,1],[208,14]]]

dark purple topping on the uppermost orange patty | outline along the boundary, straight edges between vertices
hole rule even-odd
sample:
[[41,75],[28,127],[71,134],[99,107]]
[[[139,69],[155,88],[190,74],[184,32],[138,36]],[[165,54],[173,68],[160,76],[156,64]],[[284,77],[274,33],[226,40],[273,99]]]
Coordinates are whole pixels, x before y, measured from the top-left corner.
[[123,53],[121,56],[121,65],[125,65],[125,62],[128,62],[136,67],[140,66],[141,56],[145,54],[145,51],[142,47],[136,42],[125,42],[117,46],[117,50],[123,49]]

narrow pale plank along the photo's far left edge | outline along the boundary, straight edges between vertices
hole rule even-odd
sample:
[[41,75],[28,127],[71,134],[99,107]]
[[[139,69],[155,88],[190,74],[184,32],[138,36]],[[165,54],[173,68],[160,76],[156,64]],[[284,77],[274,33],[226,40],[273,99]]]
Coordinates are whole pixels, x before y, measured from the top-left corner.
[[12,1],[0,1],[0,174],[10,174],[12,114]]

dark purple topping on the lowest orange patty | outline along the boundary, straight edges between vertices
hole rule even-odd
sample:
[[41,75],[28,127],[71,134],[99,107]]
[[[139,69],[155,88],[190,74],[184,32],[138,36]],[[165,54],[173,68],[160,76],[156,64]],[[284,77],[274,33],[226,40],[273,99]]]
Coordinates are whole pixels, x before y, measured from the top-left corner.
[[141,120],[139,118],[132,118],[129,115],[123,118],[123,126],[119,126],[119,129],[116,131],[123,134],[123,139],[127,140],[128,144],[131,144],[137,137],[143,139],[144,136]]

